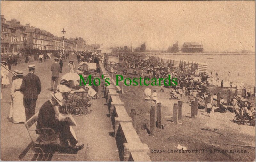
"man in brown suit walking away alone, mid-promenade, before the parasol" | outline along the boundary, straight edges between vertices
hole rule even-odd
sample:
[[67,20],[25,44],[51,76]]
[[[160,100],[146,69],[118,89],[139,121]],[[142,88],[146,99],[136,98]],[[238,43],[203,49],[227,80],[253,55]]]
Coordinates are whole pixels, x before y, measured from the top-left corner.
[[[58,80],[59,80],[59,72],[61,71],[60,69],[60,64],[58,63],[59,59],[56,57],[54,59],[54,63],[51,66],[51,71],[52,71],[52,91],[55,91],[57,88]],[[55,82],[55,84],[54,84]],[[54,85],[54,89],[53,89]]]

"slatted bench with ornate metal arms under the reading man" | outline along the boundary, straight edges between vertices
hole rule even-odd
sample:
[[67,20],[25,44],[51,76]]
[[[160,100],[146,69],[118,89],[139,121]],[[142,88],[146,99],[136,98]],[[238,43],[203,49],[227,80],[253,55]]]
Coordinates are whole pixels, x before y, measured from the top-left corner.
[[[37,122],[37,118],[38,118],[38,113],[37,112],[35,115],[33,115],[30,119],[28,119],[28,121],[25,122],[25,126],[28,130],[28,134],[31,138],[32,141],[32,147],[30,149],[30,155],[29,158],[32,154],[36,154],[36,159],[32,159],[33,161],[47,161],[49,158],[49,155],[46,157],[45,152],[43,150],[43,148],[45,146],[50,146],[50,147],[57,147],[57,159],[58,160],[58,154],[59,154],[59,147],[57,144],[57,139],[59,138],[59,133],[55,133],[55,131],[51,128],[40,128],[37,129],[36,128],[36,122]],[[35,129],[30,129],[33,125],[35,125]],[[36,132],[38,133],[38,135],[36,134]],[[36,137],[35,137],[36,135]],[[38,151],[36,151],[38,150]],[[40,159],[38,159],[40,158]],[[27,159],[24,159],[27,160]]]

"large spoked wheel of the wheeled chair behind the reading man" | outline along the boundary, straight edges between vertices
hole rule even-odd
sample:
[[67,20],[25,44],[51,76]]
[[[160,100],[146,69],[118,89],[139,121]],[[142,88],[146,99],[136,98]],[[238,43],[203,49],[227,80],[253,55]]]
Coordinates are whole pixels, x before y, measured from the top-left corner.
[[78,116],[83,113],[84,104],[79,99],[69,99],[66,103],[66,111],[72,116]]

